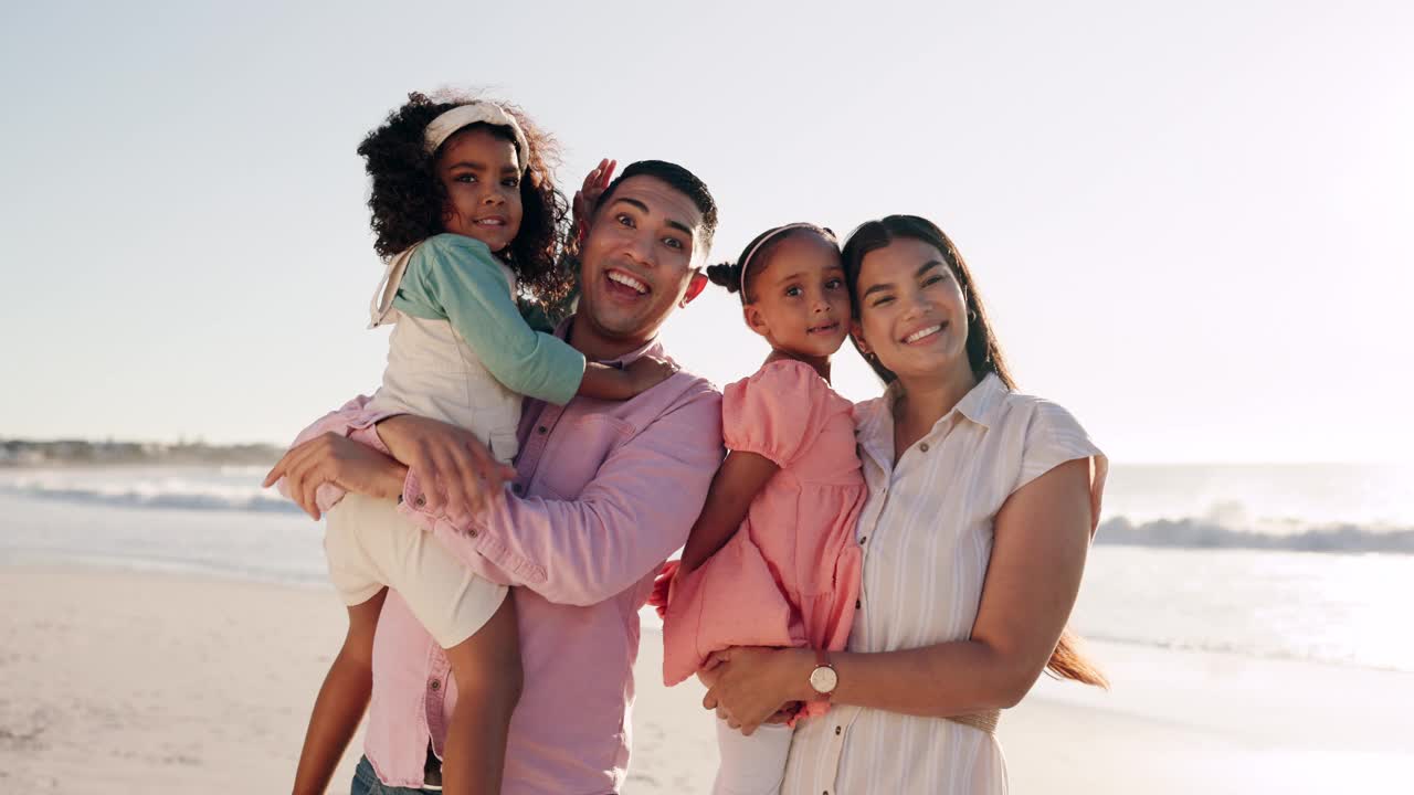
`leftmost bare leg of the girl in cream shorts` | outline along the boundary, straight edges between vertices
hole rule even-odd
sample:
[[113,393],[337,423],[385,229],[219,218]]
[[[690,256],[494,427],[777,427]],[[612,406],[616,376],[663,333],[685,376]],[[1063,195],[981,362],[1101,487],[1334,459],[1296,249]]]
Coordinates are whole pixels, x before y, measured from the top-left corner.
[[322,794],[334,770],[358,731],[373,692],[373,631],[383,610],[387,588],[373,598],[349,607],[349,631],[344,646],[324,676],[320,697],[314,700],[310,729],[304,733],[300,767],[294,772],[294,794]]

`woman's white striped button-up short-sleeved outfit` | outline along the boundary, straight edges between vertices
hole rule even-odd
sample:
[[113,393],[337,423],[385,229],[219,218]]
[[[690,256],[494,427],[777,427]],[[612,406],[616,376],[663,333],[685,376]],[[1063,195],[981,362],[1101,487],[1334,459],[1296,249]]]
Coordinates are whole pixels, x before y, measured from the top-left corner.
[[[988,375],[894,467],[891,389],[855,407],[870,498],[858,523],[864,588],[848,651],[966,639],[977,617],[997,511],[1051,468],[1106,458],[1069,412]],[[782,795],[1007,792],[995,736],[933,717],[836,706],[795,733]]]

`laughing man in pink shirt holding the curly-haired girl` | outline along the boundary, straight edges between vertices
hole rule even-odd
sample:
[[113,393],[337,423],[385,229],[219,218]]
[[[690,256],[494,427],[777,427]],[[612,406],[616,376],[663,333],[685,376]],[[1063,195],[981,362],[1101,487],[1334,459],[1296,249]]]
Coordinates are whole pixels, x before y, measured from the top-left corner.
[[[700,266],[715,225],[711,194],[686,168],[625,168],[594,209],[566,340],[590,361],[663,356],[658,331],[706,286]],[[346,439],[362,431],[376,446],[366,429],[378,420],[392,457]],[[469,511],[481,506],[477,475],[493,485],[496,472],[467,431],[372,417],[356,405],[311,430],[328,433],[271,471],[301,505],[317,513],[321,482],[402,498],[469,569],[516,586],[525,680],[502,791],[617,792],[628,768],[638,610],[662,562],[686,542],[721,461],[720,395],[679,372],[622,403],[527,400],[512,495],[479,512]],[[419,477],[441,492],[424,492]],[[441,649],[396,593],[370,665],[366,760],[354,792],[419,792],[428,747],[443,753],[455,687]]]

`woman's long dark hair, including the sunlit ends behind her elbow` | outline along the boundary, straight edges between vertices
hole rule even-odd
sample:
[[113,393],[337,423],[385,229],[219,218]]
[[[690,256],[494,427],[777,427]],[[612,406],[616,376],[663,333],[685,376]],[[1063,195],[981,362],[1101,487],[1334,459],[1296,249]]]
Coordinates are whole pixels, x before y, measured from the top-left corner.
[[[953,272],[957,284],[962,286],[963,298],[967,303],[967,364],[973,375],[981,381],[987,373],[995,373],[1008,389],[1015,389],[1017,383],[1007,369],[1007,362],[1001,355],[1001,347],[987,321],[987,310],[983,307],[981,296],[973,283],[971,272],[963,255],[957,253],[957,246],[933,222],[916,215],[889,215],[880,221],[863,224],[850,233],[844,242],[844,279],[850,289],[850,301],[854,320],[860,320],[860,269],[864,257],[874,250],[882,249],[898,239],[921,240],[939,250],[943,262]],[[858,349],[858,341],[850,337]],[[863,354],[863,351],[861,351]],[[892,383],[896,376],[885,368],[875,356],[864,356],[885,383]],[[1046,669],[1062,679],[1073,679],[1086,685],[1109,687],[1104,673],[1080,652],[1080,637],[1066,627],[1060,632],[1060,641],[1046,662]]]

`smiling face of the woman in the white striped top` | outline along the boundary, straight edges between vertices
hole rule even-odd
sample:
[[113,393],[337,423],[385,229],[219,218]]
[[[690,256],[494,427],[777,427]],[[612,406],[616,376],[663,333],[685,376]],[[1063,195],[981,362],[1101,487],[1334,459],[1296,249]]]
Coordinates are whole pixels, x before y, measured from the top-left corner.
[[855,340],[901,379],[971,372],[967,301],[936,248],[898,238],[864,255],[857,294]]

